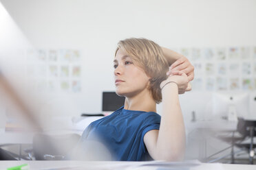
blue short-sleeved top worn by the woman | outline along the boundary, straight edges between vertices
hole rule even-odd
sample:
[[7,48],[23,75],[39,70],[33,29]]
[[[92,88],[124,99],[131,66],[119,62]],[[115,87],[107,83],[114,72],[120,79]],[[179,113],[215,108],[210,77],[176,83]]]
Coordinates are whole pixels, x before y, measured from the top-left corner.
[[109,116],[92,122],[83,132],[81,144],[94,140],[96,134],[114,160],[145,160],[149,154],[143,137],[150,130],[159,130],[160,119],[156,112],[125,110],[122,106]]

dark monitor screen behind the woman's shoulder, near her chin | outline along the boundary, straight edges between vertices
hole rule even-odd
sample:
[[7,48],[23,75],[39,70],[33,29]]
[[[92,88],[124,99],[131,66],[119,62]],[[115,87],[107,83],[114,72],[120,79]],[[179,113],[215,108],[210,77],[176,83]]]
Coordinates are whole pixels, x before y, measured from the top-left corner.
[[103,111],[115,111],[125,104],[125,97],[116,92],[103,92]]

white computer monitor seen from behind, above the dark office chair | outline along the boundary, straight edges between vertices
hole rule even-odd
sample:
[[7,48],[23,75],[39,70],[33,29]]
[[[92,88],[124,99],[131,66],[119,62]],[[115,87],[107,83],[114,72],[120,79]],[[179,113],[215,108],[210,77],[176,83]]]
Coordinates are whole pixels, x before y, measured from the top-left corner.
[[248,115],[248,93],[213,93],[212,119],[237,121],[237,117],[246,119]]

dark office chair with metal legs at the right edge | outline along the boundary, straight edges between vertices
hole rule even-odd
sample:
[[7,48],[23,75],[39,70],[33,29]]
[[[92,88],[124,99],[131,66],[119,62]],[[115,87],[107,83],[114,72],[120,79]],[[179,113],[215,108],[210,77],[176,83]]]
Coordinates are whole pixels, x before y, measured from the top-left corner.
[[[235,136],[238,132],[239,136]],[[256,121],[245,120],[238,118],[237,130],[232,132],[232,136],[217,136],[227,143],[231,143],[231,163],[235,163],[234,147],[239,147],[248,152],[249,163],[253,164],[253,157],[255,156],[256,145],[253,142],[253,138],[256,136]],[[250,143],[244,143],[244,141],[250,139]]]

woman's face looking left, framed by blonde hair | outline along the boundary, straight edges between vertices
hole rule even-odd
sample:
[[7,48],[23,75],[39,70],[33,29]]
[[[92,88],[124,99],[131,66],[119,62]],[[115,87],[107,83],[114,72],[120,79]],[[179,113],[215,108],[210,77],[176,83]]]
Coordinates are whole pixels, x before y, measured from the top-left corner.
[[114,59],[114,78],[116,94],[125,97],[134,97],[147,90],[150,79],[145,71],[136,66],[131,57],[120,49]]

